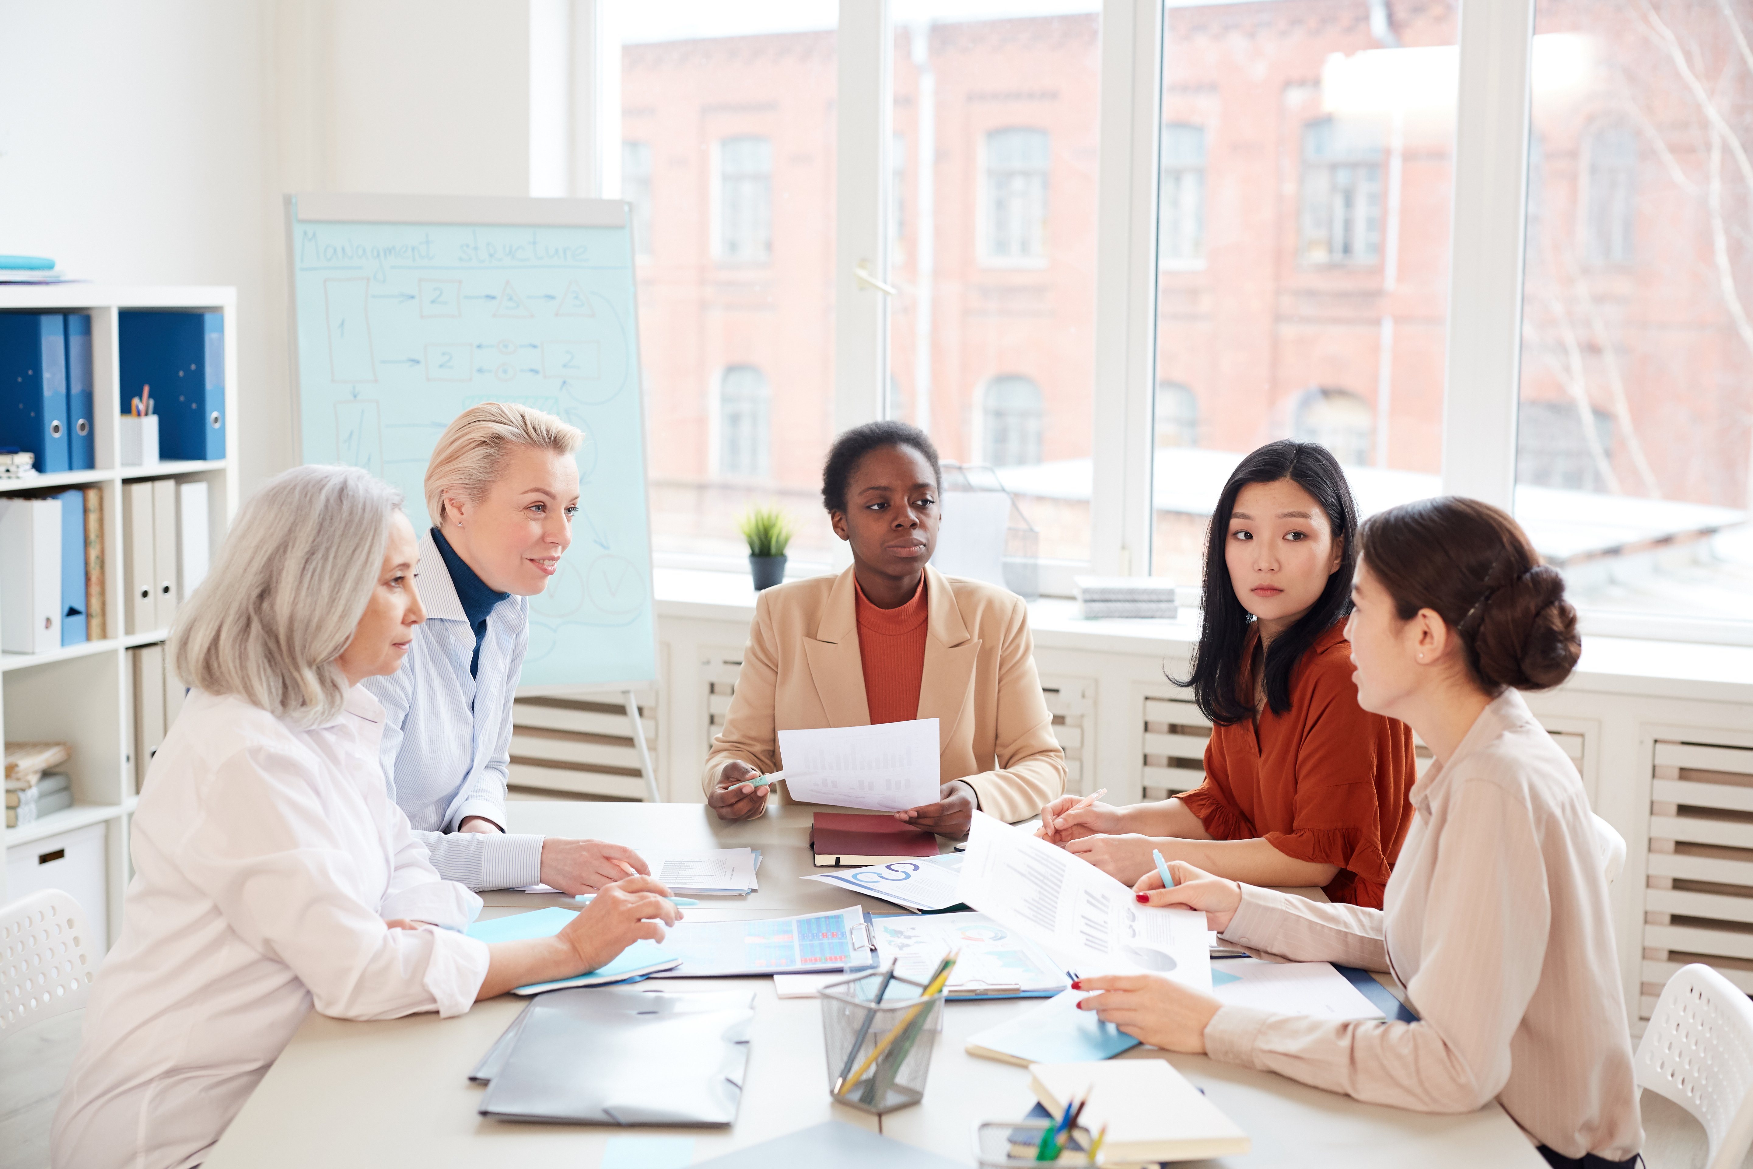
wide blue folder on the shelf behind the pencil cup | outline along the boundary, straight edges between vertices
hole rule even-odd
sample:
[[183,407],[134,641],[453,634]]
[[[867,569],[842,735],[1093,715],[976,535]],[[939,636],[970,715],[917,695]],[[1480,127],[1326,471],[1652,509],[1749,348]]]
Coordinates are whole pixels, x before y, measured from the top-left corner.
[[121,314],[121,401],[151,387],[161,459],[224,457],[224,314]]

